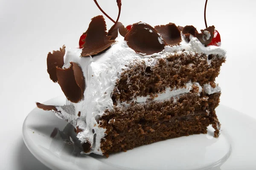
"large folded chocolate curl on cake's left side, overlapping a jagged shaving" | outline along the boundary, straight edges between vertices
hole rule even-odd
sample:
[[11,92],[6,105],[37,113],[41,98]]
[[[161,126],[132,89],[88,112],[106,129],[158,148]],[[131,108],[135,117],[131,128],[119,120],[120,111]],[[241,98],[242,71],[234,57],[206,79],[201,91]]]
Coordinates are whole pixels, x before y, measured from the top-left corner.
[[79,102],[84,97],[85,82],[83,72],[78,64],[70,62],[66,69],[57,68],[58,84],[68,100]]

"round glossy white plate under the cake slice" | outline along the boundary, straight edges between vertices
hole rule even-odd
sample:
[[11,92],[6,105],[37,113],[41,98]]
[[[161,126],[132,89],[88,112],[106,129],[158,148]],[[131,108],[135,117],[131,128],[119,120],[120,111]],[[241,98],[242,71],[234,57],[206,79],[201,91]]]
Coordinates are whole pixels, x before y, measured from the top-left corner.
[[[65,98],[60,96],[45,104],[64,103]],[[206,135],[169,139],[108,158],[80,154],[73,127],[51,111],[38,108],[24,121],[23,139],[30,152],[53,170],[255,169],[256,120],[223,105],[216,112],[222,124],[218,139],[212,137],[213,129],[209,127]]]

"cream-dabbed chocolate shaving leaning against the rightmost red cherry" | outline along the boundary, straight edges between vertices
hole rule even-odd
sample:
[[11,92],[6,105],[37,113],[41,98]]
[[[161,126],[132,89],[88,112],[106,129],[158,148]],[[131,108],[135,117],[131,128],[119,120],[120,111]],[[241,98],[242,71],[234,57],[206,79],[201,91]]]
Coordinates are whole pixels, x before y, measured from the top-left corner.
[[212,38],[214,37],[214,29],[214,26],[209,26],[208,28],[201,30],[201,33],[195,31],[195,37],[197,37],[198,40],[204,44],[204,46],[207,46],[210,42],[212,42]]

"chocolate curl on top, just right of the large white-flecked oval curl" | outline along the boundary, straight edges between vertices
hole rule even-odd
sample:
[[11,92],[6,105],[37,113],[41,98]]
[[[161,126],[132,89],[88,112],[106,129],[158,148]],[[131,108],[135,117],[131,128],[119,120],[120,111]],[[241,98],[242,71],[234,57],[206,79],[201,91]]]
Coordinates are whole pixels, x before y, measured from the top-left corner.
[[163,37],[168,45],[180,44],[181,35],[179,28],[174,23],[154,27]]

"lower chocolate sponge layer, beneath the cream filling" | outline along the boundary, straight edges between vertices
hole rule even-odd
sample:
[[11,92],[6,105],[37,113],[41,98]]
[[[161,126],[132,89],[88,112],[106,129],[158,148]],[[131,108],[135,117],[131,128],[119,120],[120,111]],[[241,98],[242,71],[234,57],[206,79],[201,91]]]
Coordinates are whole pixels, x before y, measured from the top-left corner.
[[176,102],[171,98],[137,103],[128,108],[116,106],[100,118],[100,126],[107,129],[101,150],[108,156],[165,139],[207,133],[209,125],[215,128],[215,137],[218,137],[220,124],[215,108],[220,94],[201,92],[199,96],[192,90]]

